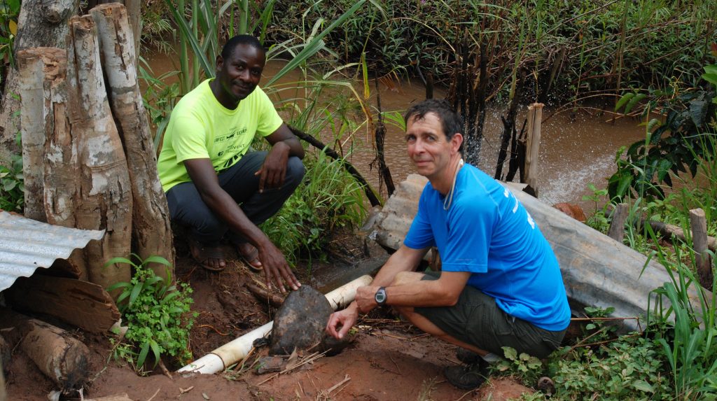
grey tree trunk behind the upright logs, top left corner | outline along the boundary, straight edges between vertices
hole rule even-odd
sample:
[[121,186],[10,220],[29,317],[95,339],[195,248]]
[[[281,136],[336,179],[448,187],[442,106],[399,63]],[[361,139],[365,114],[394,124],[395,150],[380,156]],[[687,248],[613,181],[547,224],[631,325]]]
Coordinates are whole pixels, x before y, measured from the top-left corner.
[[[77,12],[79,0],[23,0],[17,19],[15,51],[31,47],[65,47],[67,19]],[[0,146],[17,151],[15,137],[20,130],[17,99],[18,74],[10,69],[0,105]]]

